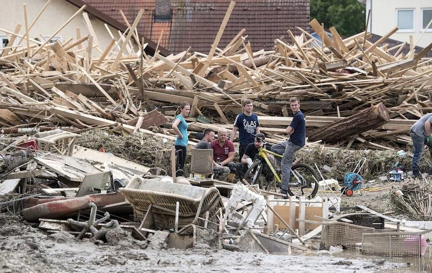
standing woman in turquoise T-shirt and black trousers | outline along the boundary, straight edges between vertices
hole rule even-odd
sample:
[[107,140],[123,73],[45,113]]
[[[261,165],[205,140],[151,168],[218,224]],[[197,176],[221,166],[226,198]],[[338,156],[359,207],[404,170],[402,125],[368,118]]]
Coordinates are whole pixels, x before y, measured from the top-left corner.
[[[175,133],[177,133],[177,139],[174,143],[175,151],[181,151],[178,157],[176,173],[179,169],[183,170],[184,161],[186,160],[186,147],[189,139],[187,137],[187,123],[184,118],[189,115],[190,111],[191,106],[189,105],[189,103],[182,102],[181,105],[177,108],[177,111],[175,112],[174,122],[171,126],[172,129],[174,129]],[[183,173],[176,174],[176,176],[178,175],[183,175]]]

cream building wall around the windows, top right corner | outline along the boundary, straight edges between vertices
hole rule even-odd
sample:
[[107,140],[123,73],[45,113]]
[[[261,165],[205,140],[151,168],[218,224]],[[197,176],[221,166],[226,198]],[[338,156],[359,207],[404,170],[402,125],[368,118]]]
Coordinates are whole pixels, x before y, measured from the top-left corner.
[[[397,26],[397,9],[414,9],[413,31],[399,30],[391,35],[391,39],[410,42],[413,35],[414,43],[419,38],[422,30],[422,8],[432,9],[432,0],[367,0],[366,19],[368,9],[371,9],[372,21],[369,22],[369,31],[378,35],[385,35]],[[432,30],[427,30],[417,43],[417,46],[426,47],[432,42]]]

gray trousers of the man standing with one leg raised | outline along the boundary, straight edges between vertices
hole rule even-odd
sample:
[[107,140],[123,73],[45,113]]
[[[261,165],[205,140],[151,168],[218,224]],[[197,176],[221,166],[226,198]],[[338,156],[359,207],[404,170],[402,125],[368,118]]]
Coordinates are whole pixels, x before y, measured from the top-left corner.
[[292,161],[294,160],[295,151],[300,148],[300,146],[292,144],[289,140],[275,144],[271,147],[272,152],[276,152],[280,155],[283,154],[282,160],[280,160],[279,157],[276,157],[277,163],[282,171],[282,184],[280,185],[282,190],[288,190]]

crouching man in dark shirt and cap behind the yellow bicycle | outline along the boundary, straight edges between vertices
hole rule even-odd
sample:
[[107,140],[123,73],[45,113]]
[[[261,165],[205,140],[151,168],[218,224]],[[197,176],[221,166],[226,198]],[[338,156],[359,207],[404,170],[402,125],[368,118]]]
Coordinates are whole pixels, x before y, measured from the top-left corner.
[[[246,171],[249,167],[251,167],[252,163],[254,162],[255,156],[258,154],[258,149],[263,145],[262,140],[265,139],[264,133],[257,133],[257,137],[254,140],[254,143],[248,144],[245,149],[245,153],[243,154],[243,157],[240,159],[240,163],[237,165],[237,172],[236,175],[238,178],[242,179],[245,176]],[[269,166],[267,164],[262,164],[263,170],[261,171],[261,174],[264,175],[267,182],[270,182],[273,180],[273,172],[270,170]]]

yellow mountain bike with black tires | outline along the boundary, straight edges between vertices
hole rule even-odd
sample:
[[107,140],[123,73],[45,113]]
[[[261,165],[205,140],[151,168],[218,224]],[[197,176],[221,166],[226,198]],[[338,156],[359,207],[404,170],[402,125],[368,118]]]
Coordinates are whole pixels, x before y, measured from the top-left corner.
[[[255,136],[255,135],[254,135]],[[257,136],[255,136],[257,137]],[[270,154],[282,159],[283,155],[277,154],[270,150],[265,149],[267,143],[262,140],[260,137],[257,137],[261,140],[262,145],[258,149],[258,153],[255,156],[254,162],[251,167],[245,173],[245,179],[250,184],[260,183],[261,188],[267,188],[268,184],[264,182],[260,182],[261,171],[263,170],[264,164],[267,164],[270,170],[273,172],[274,179],[276,183],[280,184],[282,179],[282,175],[280,172],[276,171],[276,168],[267,158],[266,154]],[[314,170],[306,164],[297,163],[292,165],[291,167],[291,175],[289,178],[289,188],[288,194],[290,196],[301,197],[304,196],[308,199],[313,198],[318,192],[318,176],[315,174]]]

